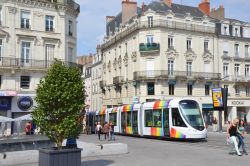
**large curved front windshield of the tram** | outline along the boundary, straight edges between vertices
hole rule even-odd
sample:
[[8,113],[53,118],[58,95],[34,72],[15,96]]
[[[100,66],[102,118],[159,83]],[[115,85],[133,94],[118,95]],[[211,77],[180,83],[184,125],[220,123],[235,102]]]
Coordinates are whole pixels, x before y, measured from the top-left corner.
[[179,104],[181,113],[189,125],[197,130],[204,130],[205,127],[198,103],[192,100],[183,100]]

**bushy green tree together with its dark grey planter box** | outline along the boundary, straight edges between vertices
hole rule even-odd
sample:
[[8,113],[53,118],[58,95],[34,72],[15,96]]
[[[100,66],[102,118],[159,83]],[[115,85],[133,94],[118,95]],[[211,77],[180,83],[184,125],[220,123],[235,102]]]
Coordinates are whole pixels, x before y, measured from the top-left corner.
[[67,138],[76,139],[81,133],[79,118],[84,108],[84,94],[80,70],[67,67],[59,60],[55,60],[40,80],[32,118],[56,147],[39,149],[39,166],[81,165],[81,149],[69,149],[62,143]]

